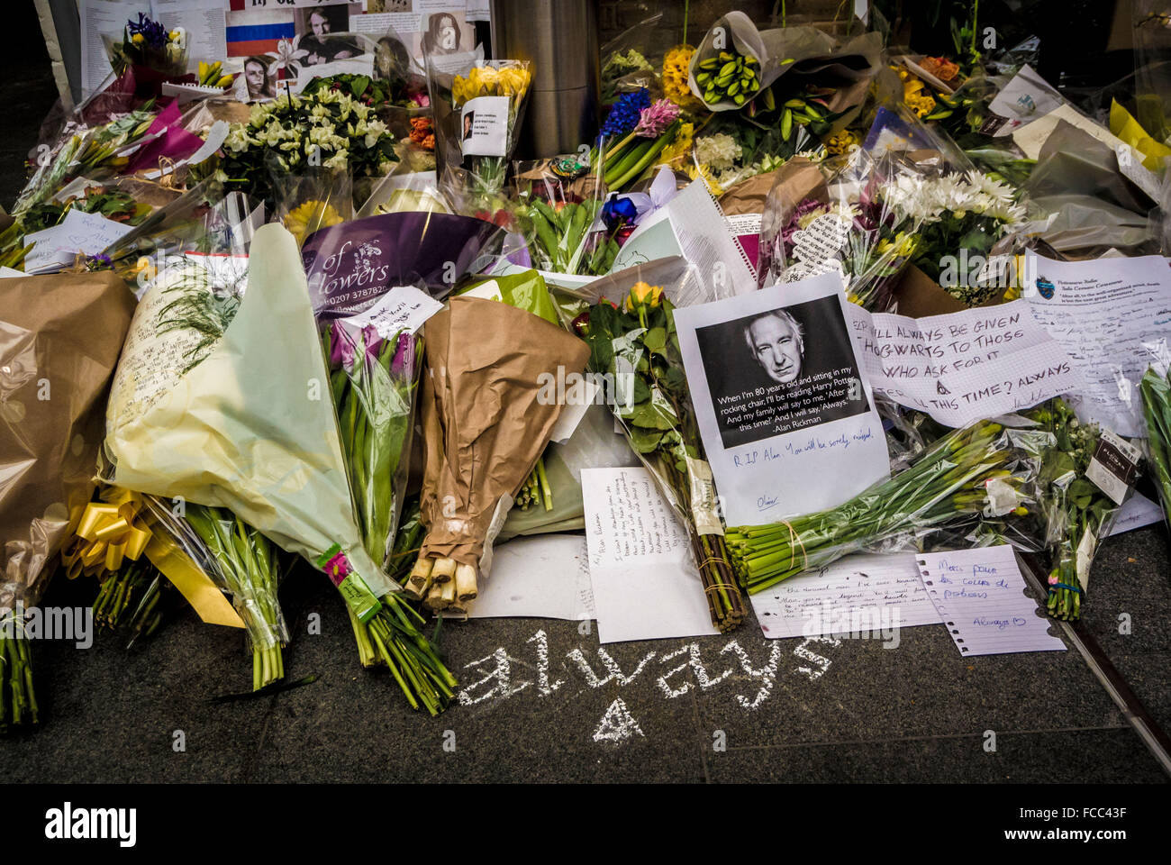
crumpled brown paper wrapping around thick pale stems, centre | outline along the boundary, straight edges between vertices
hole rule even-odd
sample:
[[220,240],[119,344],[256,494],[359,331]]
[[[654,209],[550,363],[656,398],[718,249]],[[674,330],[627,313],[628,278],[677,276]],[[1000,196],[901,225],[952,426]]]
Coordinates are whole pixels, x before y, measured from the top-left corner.
[[581,374],[589,348],[523,309],[466,297],[430,318],[425,338],[419,554],[479,567],[500,499],[520,490],[561,414],[539,400],[541,374]]

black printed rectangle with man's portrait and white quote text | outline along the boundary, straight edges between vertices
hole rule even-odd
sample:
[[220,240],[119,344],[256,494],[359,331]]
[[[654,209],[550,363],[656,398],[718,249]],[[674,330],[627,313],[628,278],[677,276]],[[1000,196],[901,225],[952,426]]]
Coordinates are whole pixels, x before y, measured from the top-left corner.
[[696,328],[725,448],[869,410],[836,297]]

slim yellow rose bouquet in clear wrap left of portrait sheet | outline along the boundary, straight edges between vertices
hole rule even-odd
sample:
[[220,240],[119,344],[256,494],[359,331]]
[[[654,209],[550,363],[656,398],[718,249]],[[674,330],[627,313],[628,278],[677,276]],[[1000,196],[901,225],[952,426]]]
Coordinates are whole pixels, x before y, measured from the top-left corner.
[[603,299],[575,326],[589,343],[590,369],[615,382],[615,415],[630,447],[687,526],[712,625],[726,632],[744,619],[744,600],[724,543],[672,311],[662,287],[636,282],[621,307]]

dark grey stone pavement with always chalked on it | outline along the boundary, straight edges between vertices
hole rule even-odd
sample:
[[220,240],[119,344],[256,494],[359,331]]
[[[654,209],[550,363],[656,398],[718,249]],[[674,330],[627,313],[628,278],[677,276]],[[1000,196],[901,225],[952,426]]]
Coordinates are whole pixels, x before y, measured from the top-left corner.
[[[47,64],[0,79],[6,204],[54,96]],[[1167,551],[1163,526],[1107,542],[1084,621],[1171,729]],[[94,592],[61,579],[43,602]],[[1074,651],[964,659],[943,626],[904,628],[896,649],[767,641],[752,618],[726,636],[600,647],[576,622],[475,620],[444,628],[464,699],[430,718],[358,666],[324,577],[299,567],[281,597],[288,679],[314,683],[212,702],[249,687],[251,662],[239,632],[191,611],[131,651],[110,634],[88,651],[37,643],[44,721],[0,740],[0,770],[47,782],[1167,781]],[[320,635],[307,633],[311,613]]]

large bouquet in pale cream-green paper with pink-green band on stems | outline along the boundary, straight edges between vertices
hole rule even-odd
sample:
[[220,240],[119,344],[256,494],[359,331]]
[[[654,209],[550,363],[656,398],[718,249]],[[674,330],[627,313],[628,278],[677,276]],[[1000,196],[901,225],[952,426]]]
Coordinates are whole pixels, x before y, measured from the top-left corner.
[[[396,679],[412,706],[440,711],[451,674],[398,606],[379,600],[397,587],[367,553],[357,524],[293,237],[275,225],[255,233],[234,314],[211,298],[205,315],[164,332],[171,300],[156,285],[138,306],[107,413],[105,478],[226,508],[316,564],[358,619],[403,635],[411,656],[398,659]],[[420,666],[429,679],[412,675]]]

